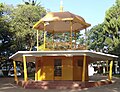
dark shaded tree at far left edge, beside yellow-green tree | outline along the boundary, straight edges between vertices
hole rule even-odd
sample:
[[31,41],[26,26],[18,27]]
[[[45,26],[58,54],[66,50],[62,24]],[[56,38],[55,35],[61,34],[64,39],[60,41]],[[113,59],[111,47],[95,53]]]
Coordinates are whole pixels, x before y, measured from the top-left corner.
[[11,55],[10,46],[12,45],[12,35],[10,32],[10,19],[12,6],[0,4],[0,67],[2,67],[4,76],[7,76],[11,62],[8,57]]

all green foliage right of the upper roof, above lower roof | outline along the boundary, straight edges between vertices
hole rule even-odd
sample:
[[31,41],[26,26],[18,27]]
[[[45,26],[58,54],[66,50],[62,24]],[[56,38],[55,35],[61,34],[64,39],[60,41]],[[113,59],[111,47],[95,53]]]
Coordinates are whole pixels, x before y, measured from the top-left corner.
[[103,23],[96,25],[89,32],[89,49],[114,53],[120,43],[120,0],[106,11]]

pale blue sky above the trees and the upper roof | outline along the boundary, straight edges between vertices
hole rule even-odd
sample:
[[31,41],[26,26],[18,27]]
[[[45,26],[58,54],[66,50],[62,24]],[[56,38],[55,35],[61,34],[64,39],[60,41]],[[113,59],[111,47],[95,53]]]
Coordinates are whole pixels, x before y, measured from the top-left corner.
[[[24,0],[29,1],[29,0]],[[105,12],[115,4],[115,0],[62,0],[64,11],[69,11],[85,19],[91,27],[104,21]],[[0,0],[5,4],[22,4],[23,0]],[[60,0],[37,0],[45,9],[52,12],[60,11]]]

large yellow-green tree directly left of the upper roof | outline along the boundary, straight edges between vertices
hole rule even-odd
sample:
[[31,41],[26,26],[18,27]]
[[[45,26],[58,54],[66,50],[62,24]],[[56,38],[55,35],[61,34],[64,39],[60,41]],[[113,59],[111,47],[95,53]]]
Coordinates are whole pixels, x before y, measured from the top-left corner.
[[36,44],[36,31],[32,26],[45,14],[46,10],[41,5],[18,5],[10,15],[11,31],[15,33],[15,43],[11,48],[15,51],[32,50]]

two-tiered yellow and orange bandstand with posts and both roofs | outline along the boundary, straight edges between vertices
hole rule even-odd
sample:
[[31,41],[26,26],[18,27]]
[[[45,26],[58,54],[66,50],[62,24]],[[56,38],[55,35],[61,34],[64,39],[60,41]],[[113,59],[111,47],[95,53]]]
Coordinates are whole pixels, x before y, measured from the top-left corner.
[[[89,82],[88,64],[96,61],[111,61],[108,79],[112,79],[112,63],[115,55],[87,50],[86,44],[77,44],[76,34],[90,26],[78,15],[70,12],[49,12],[40,19],[33,28],[37,32],[37,51],[18,51],[10,59],[14,63],[15,81],[19,83],[16,74],[16,62],[24,65],[24,83],[29,82],[27,62],[35,62],[34,82],[66,81]],[[43,49],[39,49],[39,32],[44,33]],[[50,33],[52,41],[46,40],[46,33]],[[59,33],[69,34],[69,41],[56,41],[54,36]],[[73,36],[74,34],[74,36]],[[85,39],[86,40],[86,39]],[[58,82],[58,84],[59,84]],[[69,82],[68,82],[69,83]],[[29,84],[29,83],[28,83]],[[22,84],[23,85],[23,84]],[[25,85],[25,84],[24,84]],[[39,88],[39,87],[38,87]]]

